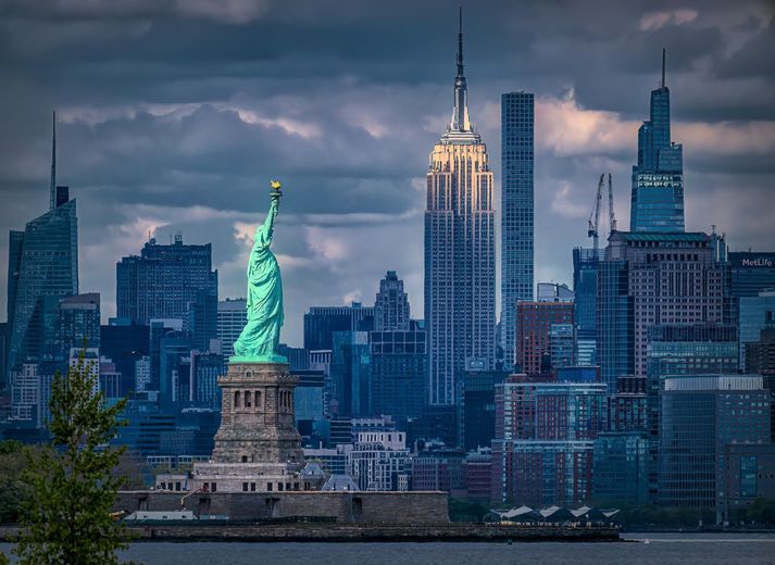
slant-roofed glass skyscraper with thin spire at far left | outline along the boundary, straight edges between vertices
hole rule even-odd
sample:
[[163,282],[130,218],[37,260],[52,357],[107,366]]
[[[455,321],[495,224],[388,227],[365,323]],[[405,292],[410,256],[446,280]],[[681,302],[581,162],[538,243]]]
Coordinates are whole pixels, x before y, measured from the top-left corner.
[[10,371],[20,369],[27,359],[41,353],[41,328],[35,322],[42,318],[43,298],[78,293],[78,222],[75,200],[68,200],[67,187],[55,186],[55,139],[54,128],[51,208],[28,222],[24,231],[12,230],[9,236]]

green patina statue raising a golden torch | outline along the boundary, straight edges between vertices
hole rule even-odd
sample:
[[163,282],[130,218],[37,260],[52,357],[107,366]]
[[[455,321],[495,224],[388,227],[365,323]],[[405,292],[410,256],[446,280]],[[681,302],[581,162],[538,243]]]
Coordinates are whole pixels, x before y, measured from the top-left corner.
[[255,230],[248,263],[248,323],[234,343],[232,363],[287,363],[277,352],[283,326],[283,281],[272,251],[272,229],[279,199],[280,184],[272,181],[272,203],[266,219]]

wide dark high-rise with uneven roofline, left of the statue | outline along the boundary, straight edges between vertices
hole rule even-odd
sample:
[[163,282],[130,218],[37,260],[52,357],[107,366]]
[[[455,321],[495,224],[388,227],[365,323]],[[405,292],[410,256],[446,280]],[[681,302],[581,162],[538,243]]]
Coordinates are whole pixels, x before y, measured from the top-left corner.
[[212,246],[170,246],[151,239],[140,255],[116,264],[118,317],[139,324],[182,319],[195,349],[207,351],[217,336],[218,274],[212,269]]

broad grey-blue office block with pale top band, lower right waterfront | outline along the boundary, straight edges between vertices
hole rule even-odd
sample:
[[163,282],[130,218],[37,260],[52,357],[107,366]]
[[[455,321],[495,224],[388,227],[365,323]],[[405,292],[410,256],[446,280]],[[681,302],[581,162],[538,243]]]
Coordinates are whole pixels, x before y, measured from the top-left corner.
[[662,391],[660,503],[728,519],[725,452],[770,442],[770,391],[759,375],[666,377]]

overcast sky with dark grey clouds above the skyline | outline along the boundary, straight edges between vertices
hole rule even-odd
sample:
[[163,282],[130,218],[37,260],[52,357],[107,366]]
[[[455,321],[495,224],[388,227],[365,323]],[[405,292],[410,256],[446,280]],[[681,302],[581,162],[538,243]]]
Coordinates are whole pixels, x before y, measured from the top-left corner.
[[[425,172],[451,115],[448,1],[0,0],[0,277],[8,231],[78,201],[80,291],[115,315],[115,263],[149,231],[213,243],[221,298],[245,294],[268,180],[284,340],[311,305],[362,300],[396,269],[423,312]],[[773,2],[463,2],[473,122],[500,185],[500,95],[536,95],[536,275],[571,282],[597,178],[629,222],[637,128],[667,48],[687,229],[775,251]]]

